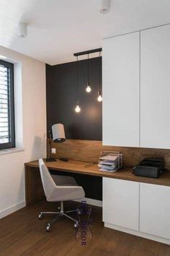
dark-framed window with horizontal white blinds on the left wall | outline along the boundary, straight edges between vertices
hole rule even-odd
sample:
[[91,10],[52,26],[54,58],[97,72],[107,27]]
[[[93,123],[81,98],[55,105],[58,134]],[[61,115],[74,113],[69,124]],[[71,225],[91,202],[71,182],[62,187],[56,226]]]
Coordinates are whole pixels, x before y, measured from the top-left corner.
[[14,147],[14,64],[0,60],[0,150]]

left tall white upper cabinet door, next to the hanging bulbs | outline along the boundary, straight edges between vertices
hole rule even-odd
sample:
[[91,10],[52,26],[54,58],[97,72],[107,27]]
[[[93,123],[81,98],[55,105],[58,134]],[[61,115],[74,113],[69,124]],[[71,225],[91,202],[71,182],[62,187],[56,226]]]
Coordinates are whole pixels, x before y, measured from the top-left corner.
[[103,41],[103,144],[139,146],[139,33]]

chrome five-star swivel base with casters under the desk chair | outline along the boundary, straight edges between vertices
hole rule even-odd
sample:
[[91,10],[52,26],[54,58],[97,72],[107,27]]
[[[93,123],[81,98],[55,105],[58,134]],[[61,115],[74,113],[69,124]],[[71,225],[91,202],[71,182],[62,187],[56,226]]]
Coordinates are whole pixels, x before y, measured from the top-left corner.
[[45,214],[55,214],[56,215],[55,218],[53,218],[53,220],[50,221],[47,224],[46,231],[49,232],[51,230],[51,225],[53,224],[53,222],[57,221],[58,218],[63,217],[63,216],[65,216],[66,218],[69,218],[71,221],[75,222],[74,225],[73,225],[74,229],[78,229],[79,228],[79,221],[76,220],[75,218],[72,218],[71,216],[68,216],[68,214],[67,214],[67,213],[76,212],[76,213],[78,213],[80,215],[81,211],[79,209],[64,211],[63,210],[63,202],[61,202],[61,207],[59,207],[58,209],[60,210],[58,212],[40,212],[40,214],[38,216],[39,219],[42,219]]

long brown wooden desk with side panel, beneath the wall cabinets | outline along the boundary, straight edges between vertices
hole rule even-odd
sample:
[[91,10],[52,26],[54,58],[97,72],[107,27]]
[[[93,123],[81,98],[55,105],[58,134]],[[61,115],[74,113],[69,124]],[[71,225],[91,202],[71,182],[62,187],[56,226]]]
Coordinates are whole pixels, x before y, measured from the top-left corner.
[[[69,160],[68,162],[56,161],[45,163],[46,166],[53,171],[72,172],[76,174],[86,174],[91,176],[102,176],[112,179],[125,179],[133,182],[143,182],[150,184],[159,184],[170,186],[170,171],[162,174],[158,179],[151,179],[133,175],[133,168],[122,168],[115,173],[99,171],[97,164],[85,167],[89,163],[82,161]],[[40,171],[38,161],[25,163],[25,193],[26,204],[31,205],[42,199],[42,182],[40,179]]]

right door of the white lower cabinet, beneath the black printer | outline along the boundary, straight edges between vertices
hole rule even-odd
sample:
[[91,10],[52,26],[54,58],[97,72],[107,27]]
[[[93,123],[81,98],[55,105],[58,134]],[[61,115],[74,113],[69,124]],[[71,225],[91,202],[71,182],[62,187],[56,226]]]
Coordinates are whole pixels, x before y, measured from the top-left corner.
[[140,231],[170,239],[170,187],[140,183]]

